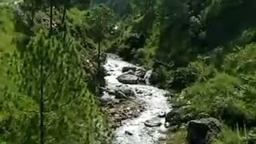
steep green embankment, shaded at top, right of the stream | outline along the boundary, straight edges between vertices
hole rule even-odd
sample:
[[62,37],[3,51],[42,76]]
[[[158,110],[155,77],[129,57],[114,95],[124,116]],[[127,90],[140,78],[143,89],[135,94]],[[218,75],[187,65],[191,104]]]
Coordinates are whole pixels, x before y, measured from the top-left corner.
[[[178,92],[173,104],[177,110],[186,108],[182,111],[185,119],[174,117],[178,121],[186,123],[202,115],[218,118],[228,126],[218,143],[253,141],[234,131],[245,128],[254,135],[256,23],[250,15],[255,14],[256,2],[160,3],[126,18],[120,25],[122,37],[110,51],[154,68],[151,82]],[[172,141],[185,141],[185,131],[179,131]]]

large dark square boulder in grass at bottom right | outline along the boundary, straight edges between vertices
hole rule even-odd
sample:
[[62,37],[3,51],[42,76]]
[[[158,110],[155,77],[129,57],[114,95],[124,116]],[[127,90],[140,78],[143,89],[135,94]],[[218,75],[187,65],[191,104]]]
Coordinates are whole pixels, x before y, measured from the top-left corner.
[[188,144],[210,144],[222,131],[222,123],[216,118],[190,121],[187,127]]

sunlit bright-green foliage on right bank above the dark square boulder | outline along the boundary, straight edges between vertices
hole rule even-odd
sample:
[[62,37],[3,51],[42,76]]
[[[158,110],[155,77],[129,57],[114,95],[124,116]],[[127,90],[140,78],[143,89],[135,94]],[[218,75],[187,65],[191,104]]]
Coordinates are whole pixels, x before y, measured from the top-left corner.
[[[229,126],[254,126],[255,113],[255,66],[254,44],[238,52],[226,55],[222,65],[225,73],[215,70],[210,74],[210,66],[198,67],[201,71],[198,82],[187,87],[183,92],[186,101],[199,113],[207,113],[222,118]],[[191,65],[191,66],[192,66]]]

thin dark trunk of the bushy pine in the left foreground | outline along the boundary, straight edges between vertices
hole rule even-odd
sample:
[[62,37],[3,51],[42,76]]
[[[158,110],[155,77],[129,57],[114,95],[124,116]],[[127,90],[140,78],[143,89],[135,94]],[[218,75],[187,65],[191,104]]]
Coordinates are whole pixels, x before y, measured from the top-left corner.
[[40,86],[40,144],[45,143],[45,126],[44,126],[44,95],[43,95],[43,69],[42,69],[42,58],[41,58],[41,86]]

